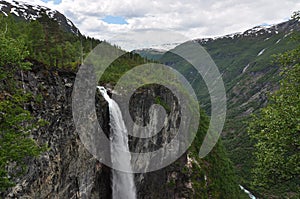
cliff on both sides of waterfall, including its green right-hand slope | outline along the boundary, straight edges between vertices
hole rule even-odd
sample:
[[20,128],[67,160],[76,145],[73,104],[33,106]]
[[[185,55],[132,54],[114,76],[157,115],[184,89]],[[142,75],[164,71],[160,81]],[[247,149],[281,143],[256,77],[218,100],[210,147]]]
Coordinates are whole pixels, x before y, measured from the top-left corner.
[[[47,144],[49,150],[40,157],[27,159],[28,170],[16,186],[3,198],[111,198],[111,169],[95,159],[83,146],[72,116],[72,91],[76,74],[60,69],[47,69],[33,63],[32,70],[17,74],[26,92],[36,102],[26,105],[37,119],[48,124],[33,132],[34,139]],[[96,93],[97,120],[106,136],[110,134],[106,101]],[[163,102],[163,103],[162,103]],[[140,124],[149,122],[149,108],[161,104],[167,116],[164,127],[155,136],[144,140],[129,137],[132,151],[153,151],[170,142],[180,122],[180,107],[171,91],[153,85],[137,90],[130,102],[130,114]],[[202,118],[203,119],[203,118]],[[205,135],[207,121],[200,130]],[[200,137],[201,137],[200,136]],[[194,141],[195,142],[195,141]],[[219,144],[207,159],[198,158],[198,145],[184,153],[171,165],[148,173],[135,174],[138,198],[237,198],[238,184]],[[176,149],[175,149],[176,150]],[[220,153],[221,152],[221,153]],[[140,159],[142,161],[142,159]],[[224,184],[225,183],[225,184]]]

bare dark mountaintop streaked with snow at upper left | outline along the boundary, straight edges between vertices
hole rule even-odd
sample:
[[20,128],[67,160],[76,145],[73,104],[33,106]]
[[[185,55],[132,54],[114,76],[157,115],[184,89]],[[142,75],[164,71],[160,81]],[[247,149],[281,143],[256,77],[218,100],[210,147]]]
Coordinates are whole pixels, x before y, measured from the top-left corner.
[[16,18],[26,21],[38,20],[43,16],[48,16],[50,19],[56,21],[65,31],[76,35],[80,34],[80,31],[71,20],[60,12],[44,6],[31,5],[14,0],[0,0],[0,13],[3,13],[5,16],[11,14]]

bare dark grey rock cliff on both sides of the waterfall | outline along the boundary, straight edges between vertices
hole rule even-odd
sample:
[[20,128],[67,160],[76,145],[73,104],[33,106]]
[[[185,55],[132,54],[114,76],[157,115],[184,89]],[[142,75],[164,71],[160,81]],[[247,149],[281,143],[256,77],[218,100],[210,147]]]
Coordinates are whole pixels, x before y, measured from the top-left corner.
[[[72,89],[76,74],[70,71],[49,70],[35,63],[31,71],[23,74],[26,92],[41,98],[40,103],[27,104],[36,118],[48,124],[33,135],[49,150],[39,158],[29,159],[27,173],[17,179],[16,186],[4,194],[5,198],[111,198],[110,168],[98,162],[83,146],[76,132],[72,117]],[[19,76],[21,81],[21,76]],[[134,98],[131,112],[136,120],[147,122],[147,109],[156,96],[175,104],[173,96],[161,87],[153,87]],[[137,103],[139,102],[139,103]],[[96,96],[98,121],[104,132],[109,134],[108,107],[100,94]],[[171,107],[175,110],[176,107]],[[176,112],[176,111],[175,111]],[[176,127],[178,118],[170,114],[168,126]],[[173,127],[172,127],[173,128]],[[164,136],[156,136],[159,146],[171,139],[164,130]],[[138,145],[131,139],[131,148]],[[145,144],[145,143],[144,143]],[[152,147],[152,148],[153,148]],[[136,174],[138,198],[188,198],[192,187],[186,174],[180,172],[187,163],[187,155],[159,171]]]

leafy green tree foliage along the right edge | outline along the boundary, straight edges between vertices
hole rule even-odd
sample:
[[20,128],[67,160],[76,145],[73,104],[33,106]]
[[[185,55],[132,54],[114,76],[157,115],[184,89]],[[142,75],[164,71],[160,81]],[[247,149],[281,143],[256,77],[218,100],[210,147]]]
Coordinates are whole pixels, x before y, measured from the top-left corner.
[[249,124],[249,134],[256,141],[253,185],[266,197],[299,198],[300,46],[277,59],[284,67],[280,89]]

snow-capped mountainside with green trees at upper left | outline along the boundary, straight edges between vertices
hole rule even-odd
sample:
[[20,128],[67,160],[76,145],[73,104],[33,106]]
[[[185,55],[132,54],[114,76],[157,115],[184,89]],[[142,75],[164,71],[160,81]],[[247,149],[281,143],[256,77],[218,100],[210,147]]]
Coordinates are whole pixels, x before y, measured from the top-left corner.
[[49,8],[0,0],[0,30],[24,43],[28,59],[49,67],[79,66],[100,40],[82,35],[63,14]]

